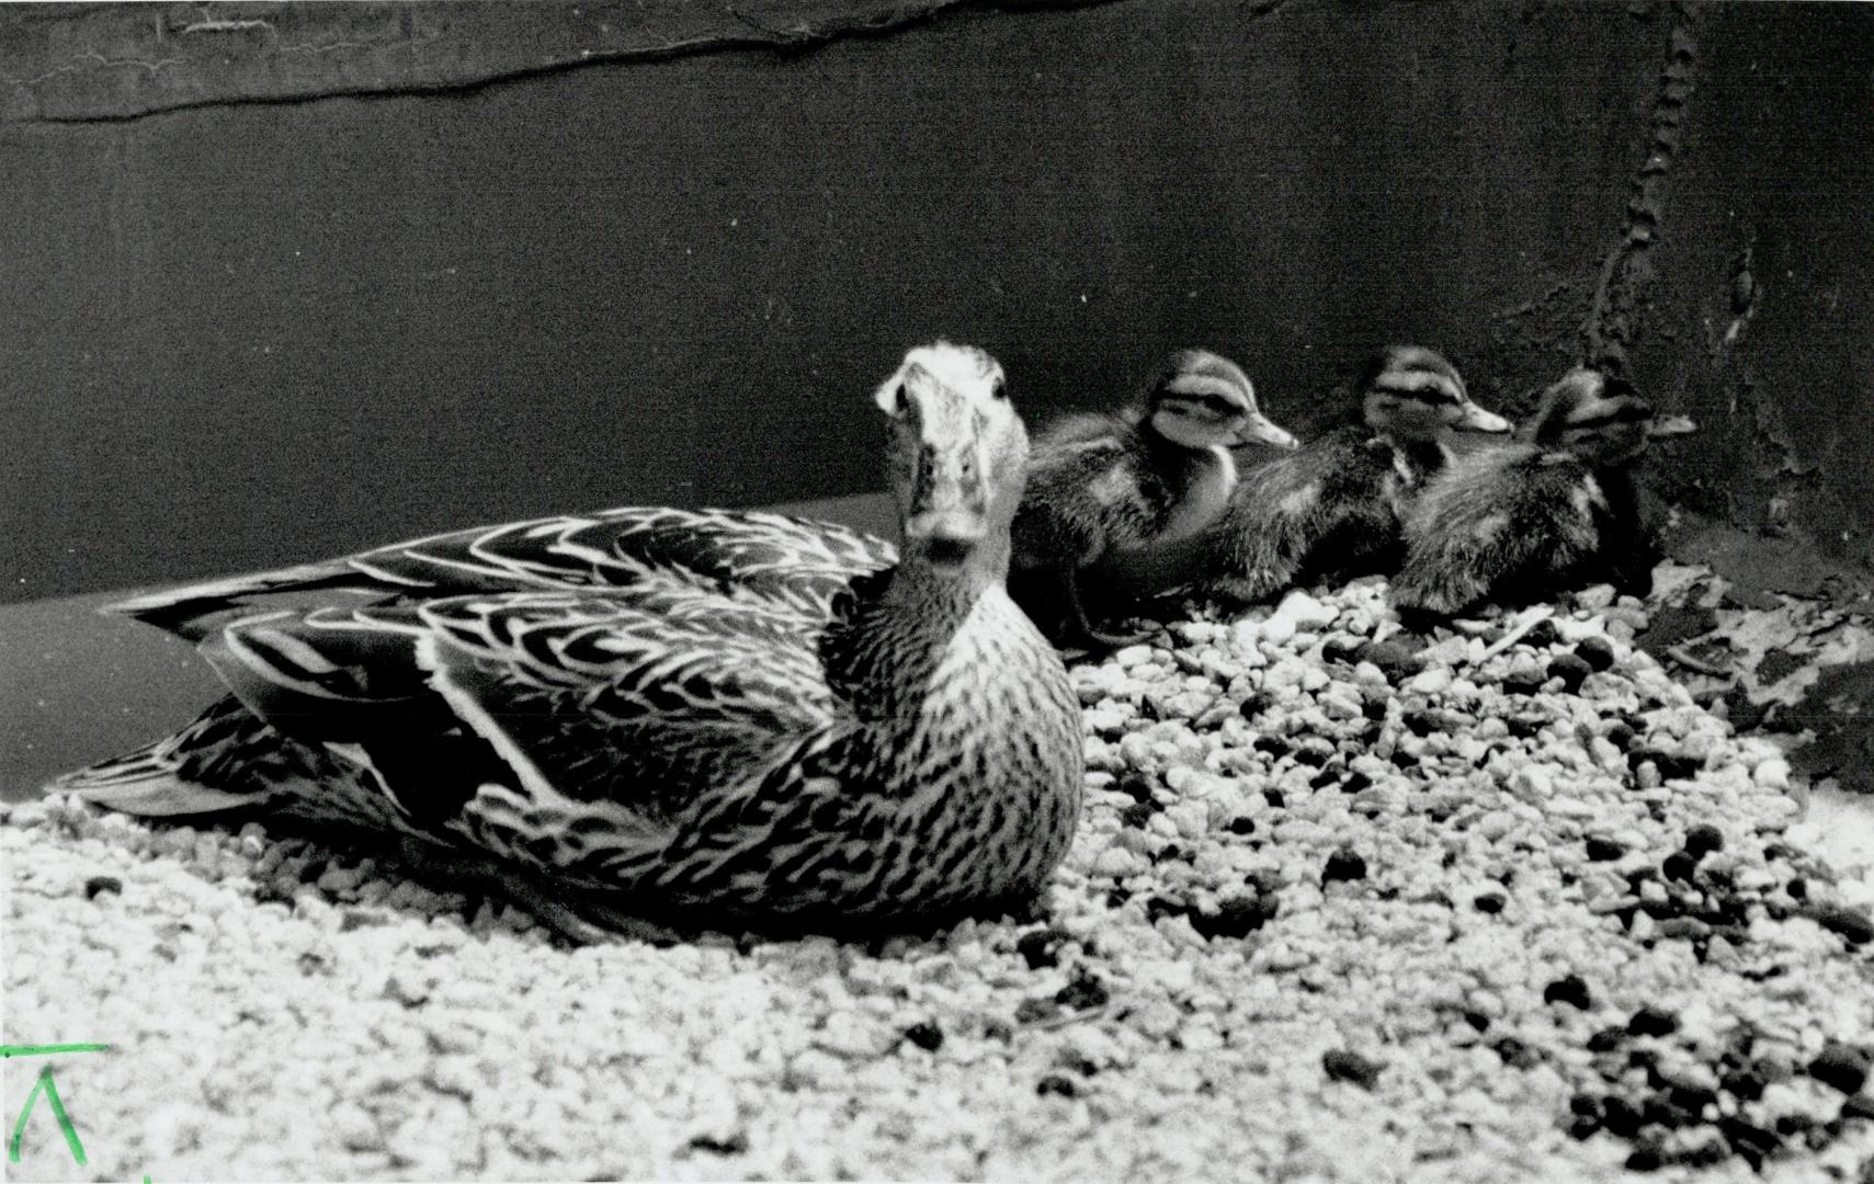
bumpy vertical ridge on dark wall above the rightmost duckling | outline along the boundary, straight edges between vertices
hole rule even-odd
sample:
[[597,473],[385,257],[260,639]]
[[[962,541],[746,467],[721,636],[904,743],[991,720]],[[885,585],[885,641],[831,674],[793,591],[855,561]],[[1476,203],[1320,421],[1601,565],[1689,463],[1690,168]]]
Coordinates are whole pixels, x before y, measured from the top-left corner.
[[1649,114],[1645,159],[1634,170],[1627,219],[1619,242],[1600,266],[1600,281],[1582,326],[1582,354],[1608,373],[1627,371],[1627,354],[1645,328],[1647,298],[1655,279],[1649,255],[1660,242],[1673,163],[1685,152],[1685,126],[1698,77],[1698,19],[1673,4],[1666,34],[1666,66]]

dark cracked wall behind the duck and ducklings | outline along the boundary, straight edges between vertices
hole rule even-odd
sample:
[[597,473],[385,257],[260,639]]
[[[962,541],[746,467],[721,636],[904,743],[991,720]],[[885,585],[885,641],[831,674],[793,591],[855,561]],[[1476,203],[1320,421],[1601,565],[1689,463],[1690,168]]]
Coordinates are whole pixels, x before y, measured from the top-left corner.
[[0,13],[13,599],[626,500],[875,487],[978,341],[1036,412],[1370,345],[1580,356],[1668,491],[1874,560],[1867,6]]

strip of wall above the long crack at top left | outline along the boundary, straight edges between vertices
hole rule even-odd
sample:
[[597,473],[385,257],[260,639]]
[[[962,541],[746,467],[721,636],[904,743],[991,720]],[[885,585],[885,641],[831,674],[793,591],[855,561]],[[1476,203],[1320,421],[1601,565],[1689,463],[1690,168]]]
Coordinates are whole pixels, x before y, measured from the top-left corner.
[[[156,11],[154,32],[141,13],[131,22],[109,9],[32,26],[15,17],[15,30],[30,28],[39,39],[0,36],[0,124],[122,124],[201,107],[470,92],[611,62],[751,49],[808,52],[847,37],[888,36],[950,11],[1064,11],[1124,2],[1132,0],[746,0],[720,9],[684,0],[590,0],[579,7],[418,2],[390,9],[266,4],[242,6],[242,15],[189,6],[182,17]],[[1289,2],[1259,0],[1246,15],[1257,19]],[[386,22],[386,13],[394,21]],[[294,22],[335,36],[285,41],[281,28]],[[358,37],[360,28],[386,24],[390,36],[382,39]],[[7,32],[7,15],[0,13],[0,34]],[[114,43],[118,52],[84,49],[51,69],[17,67],[52,60],[62,43],[84,39]],[[142,45],[150,52],[131,52]],[[165,52],[174,47],[186,52]],[[287,56],[304,66],[272,66]],[[9,64],[15,69],[6,69]],[[116,69],[146,77],[109,77]]]

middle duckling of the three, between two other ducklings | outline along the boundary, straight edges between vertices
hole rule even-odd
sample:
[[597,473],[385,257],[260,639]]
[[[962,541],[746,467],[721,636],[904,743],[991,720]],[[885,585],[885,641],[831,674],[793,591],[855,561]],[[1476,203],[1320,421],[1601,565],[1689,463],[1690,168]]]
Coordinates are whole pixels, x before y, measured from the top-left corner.
[[1353,423],[1244,474],[1207,532],[1199,592],[1254,603],[1295,585],[1392,570],[1404,556],[1402,508],[1450,463],[1454,433],[1510,429],[1424,347],[1379,350],[1355,390]]

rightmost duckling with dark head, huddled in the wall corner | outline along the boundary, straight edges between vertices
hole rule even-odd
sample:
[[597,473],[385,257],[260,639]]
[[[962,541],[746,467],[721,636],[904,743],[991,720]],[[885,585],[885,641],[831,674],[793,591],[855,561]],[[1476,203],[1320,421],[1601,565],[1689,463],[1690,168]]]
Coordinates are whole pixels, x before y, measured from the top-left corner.
[[1645,596],[1658,547],[1640,519],[1634,466],[1647,440],[1694,431],[1658,418],[1625,378],[1569,371],[1516,442],[1460,457],[1406,513],[1402,613],[1450,614],[1612,583]]

